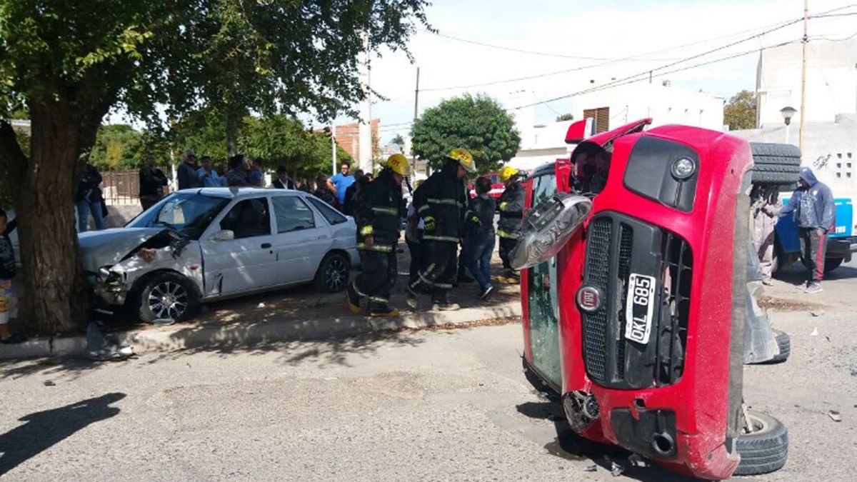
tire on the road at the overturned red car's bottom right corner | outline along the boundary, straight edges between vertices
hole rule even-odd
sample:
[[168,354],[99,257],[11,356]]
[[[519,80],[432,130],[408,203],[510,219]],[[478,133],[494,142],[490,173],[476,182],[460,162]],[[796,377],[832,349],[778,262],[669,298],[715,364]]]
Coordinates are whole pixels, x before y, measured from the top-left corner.
[[765,413],[749,411],[748,417],[758,430],[738,437],[741,461],[734,475],[758,475],[779,470],[788,460],[786,425]]

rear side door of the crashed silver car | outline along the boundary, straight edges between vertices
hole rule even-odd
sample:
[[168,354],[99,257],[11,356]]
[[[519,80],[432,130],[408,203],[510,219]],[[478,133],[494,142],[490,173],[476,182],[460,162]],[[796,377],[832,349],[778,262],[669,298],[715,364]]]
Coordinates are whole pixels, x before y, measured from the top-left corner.
[[330,227],[297,192],[271,198],[276,236],[279,284],[312,280],[333,242]]

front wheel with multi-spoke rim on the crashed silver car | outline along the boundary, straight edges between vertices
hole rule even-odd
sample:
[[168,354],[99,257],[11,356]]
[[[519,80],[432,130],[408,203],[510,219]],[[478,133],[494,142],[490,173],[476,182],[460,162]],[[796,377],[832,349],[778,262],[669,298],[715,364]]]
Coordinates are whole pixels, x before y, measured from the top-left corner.
[[138,313],[144,322],[161,318],[171,318],[177,322],[186,320],[194,315],[200,304],[200,295],[194,283],[171,271],[156,273],[143,280],[138,292]]

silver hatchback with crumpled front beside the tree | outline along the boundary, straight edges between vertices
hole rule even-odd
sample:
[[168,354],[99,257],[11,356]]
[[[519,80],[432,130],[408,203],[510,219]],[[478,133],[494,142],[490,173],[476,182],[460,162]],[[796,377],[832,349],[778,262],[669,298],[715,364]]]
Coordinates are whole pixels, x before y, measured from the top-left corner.
[[207,301],[284,286],[342,291],[360,262],[356,230],[296,190],[181,190],[125,227],[81,233],[81,258],[99,301],[181,320]]

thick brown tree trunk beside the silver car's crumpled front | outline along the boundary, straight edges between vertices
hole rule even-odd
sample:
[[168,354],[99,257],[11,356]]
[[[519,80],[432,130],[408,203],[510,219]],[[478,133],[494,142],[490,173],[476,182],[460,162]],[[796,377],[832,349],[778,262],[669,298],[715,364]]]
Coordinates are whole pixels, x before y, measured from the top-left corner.
[[9,169],[20,219],[21,316],[41,334],[69,333],[87,313],[74,212],[81,126],[67,102],[31,105],[31,117],[30,159]]

